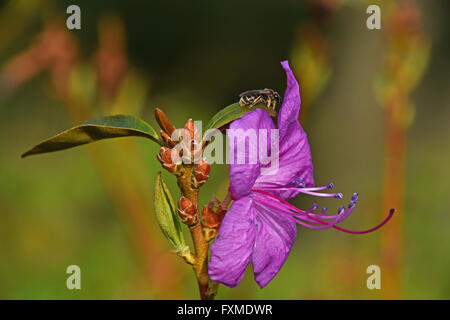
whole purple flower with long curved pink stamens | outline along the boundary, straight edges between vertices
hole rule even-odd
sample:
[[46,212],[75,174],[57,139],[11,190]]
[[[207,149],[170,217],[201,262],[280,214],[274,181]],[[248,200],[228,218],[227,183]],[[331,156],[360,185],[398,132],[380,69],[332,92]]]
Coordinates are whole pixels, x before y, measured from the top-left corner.
[[[335,215],[326,215],[326,208],[314,213],[317,205],[304,211],[287,202],[299,193],[338,199],[342,194],[318,192],[331,189],[331,183],[314,187],[308,138],[298,121],[299,86],[288,61],[281,65],[286,72],[287,88],[278,115],[278,167],[271,171],[269,164],[261,159],[254,164],[230,164],[230,192],[234,202],[211,246],[209,262],[211,279],[229,287],[242,280],[250,262],[256,282],[261,288],[266,286],[285,262],[296,238],[297,224],[312,229],[334,227],[350,233],[366,233],[381,227],[393,213],[381,225],[356,232],[336,226],[353,211],[358,198],[356,193],[348,207],[340,207]],[[256,109],[235,120],[230,130],[235,129],[266,129],[270,132],[276,127],[266,111]],[[244,149],[246,159],[251,148],[257,149],[260,144],[259,140],[256,145],[248,142]],[[270,154],[270,147],[267,149],[263,154]],[[239,150],[235,146],[232,151],[230,154],[234,157]]]

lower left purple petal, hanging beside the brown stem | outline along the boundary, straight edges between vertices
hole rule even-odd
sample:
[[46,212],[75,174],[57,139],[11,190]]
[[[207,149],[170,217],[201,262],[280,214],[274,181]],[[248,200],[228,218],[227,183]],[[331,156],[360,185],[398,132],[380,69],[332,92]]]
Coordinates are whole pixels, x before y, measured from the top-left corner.
[[211,246],[208,273],[212,280],[228,287],[242,280],[255,243],[255,216],[251,197],[233,202]]

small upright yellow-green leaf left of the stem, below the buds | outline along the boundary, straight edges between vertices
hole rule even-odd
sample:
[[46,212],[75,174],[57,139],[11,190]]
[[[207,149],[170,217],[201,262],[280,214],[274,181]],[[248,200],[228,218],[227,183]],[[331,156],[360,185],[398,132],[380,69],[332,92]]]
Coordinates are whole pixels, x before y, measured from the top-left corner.
[[162,179],[161,172],[156,177],[154,204],[156,219],[164,236],[177,251],[185,251],[187,247],[178,220],[177,209],[170,190]]

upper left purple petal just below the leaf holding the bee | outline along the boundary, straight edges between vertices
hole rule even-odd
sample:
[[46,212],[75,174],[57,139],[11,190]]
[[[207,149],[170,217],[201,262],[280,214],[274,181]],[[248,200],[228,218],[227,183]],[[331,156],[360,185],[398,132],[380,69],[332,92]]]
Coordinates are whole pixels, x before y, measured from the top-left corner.
[[[246,113],[242,118],[233,121],[230,129],[227,130],[230,143],[230,192],[233,199],[239,199],[250,194],[256,179],[260,175],[261,169],[258,157],[259,129],[275,129],[270,115],[262,109],[255,109]],[[245,138],[246,134],[250,138]],[[254,139],[255,137],[256,139]],[[241,143],[239,139],[241,139]],[[242,141],[245,142],[242,143]],[[270,142],[270,139],[268,141]],[[268,143],[268,145],[270,144]],[[239,163],[239,158],[244,161]]]

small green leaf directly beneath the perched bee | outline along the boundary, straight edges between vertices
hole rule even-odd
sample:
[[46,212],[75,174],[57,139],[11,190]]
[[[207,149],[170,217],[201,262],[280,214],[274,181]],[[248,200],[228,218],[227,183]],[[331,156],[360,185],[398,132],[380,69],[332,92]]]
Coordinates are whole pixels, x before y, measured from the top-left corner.
[[[272,117],[276,116],[275,112],[272,109],[269,109],[265,104],[257,104],[256,106],[249,108],[248,106],[240,106],[239,103],[233,103],[217,112],[211,120],[209,120],[204,132],[206,133],[210,129],[219,129],[256,108],[266,110]],[[208,134],[205,135],[203,140],[206,140],[207,138]]]

